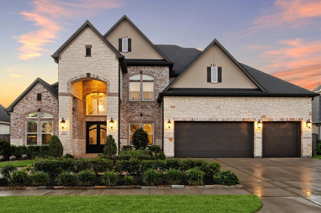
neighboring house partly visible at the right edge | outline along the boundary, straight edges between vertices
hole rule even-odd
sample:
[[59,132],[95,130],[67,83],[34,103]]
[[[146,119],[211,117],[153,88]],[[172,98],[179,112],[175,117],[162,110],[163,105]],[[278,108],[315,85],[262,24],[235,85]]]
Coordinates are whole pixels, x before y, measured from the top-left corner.
[[[317,86],[312,92],[321,94],[321,85]],[[312,100],[312,133],[318,134],[318,140],[321,138],[321,98],[315,97]]]

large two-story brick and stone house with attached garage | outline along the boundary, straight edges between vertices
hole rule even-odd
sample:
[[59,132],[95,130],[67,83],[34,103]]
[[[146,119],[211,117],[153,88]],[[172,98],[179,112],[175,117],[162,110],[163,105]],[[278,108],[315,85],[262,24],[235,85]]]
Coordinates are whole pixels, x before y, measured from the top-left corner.
[[119,150],[141,127],[168,157],[311,157],[318,94],[240,64],[216,39],[204,51],[154,45],[123,16],[105,35],[86,21],[52,57],[59,83],[37,79],[6,109],[12,144],[58,134],[64,153],[101,153],[106,135]]

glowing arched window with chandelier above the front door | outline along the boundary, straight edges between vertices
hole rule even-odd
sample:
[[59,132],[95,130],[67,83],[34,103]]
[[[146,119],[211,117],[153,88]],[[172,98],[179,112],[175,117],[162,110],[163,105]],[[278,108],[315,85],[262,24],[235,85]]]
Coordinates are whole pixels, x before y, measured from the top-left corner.
[[86,115],[107,115],[107,95],[102,92],[86,96]]

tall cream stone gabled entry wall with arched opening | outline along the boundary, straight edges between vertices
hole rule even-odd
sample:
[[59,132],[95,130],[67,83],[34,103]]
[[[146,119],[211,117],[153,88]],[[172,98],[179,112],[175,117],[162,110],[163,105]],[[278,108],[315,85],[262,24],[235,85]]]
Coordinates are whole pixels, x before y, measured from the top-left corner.
[[[85,45],[92,45],[91,57],[85,57]],[[87,73],[90,73],[89,77]],[[83,29],[59,54],[59,119],[64,117],[66,121],[65,134],[62,134],[59,126],[59,138],[64,146],[64,153],[83,153],[83,147],[78,150],[76,146],[84,143],[83,139],[78,141],[73,135],[73,129],[78,125],[73,119],[73,99],[79,99],[80,95],[77,94],[77,88],[72,89],[73,84],[82,80],[100,80],[107,84],[106,120],[113,117],[114,128],[109,129],[109,134],[118,143],[118,60],[115,53],[89,27]],[[81,104],[76,104],[76,107],[80,106]]]

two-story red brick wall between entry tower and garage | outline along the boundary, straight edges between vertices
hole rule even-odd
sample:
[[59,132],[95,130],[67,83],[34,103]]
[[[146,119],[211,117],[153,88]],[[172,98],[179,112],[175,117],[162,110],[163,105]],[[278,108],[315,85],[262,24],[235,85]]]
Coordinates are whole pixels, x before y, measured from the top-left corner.
[[[148,66],[128,66],[128,73],[123,74],[122,88],[123,98],[120,105],[121,132],[120,147],[129,145],[129,123],[153,123],[154,125],[154,145],[161,146],[162,143],[162,110],[161,104],[157,103],[158,94],[169,84],[169,67],[148,67]],[[140,74],[154,77],[154,100],[143,101],[142,83],[141,100],[129,100],[129,77]],[[140,116],[143,113],[143,116]]]

